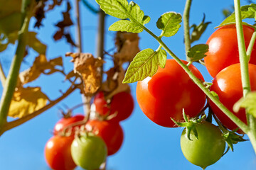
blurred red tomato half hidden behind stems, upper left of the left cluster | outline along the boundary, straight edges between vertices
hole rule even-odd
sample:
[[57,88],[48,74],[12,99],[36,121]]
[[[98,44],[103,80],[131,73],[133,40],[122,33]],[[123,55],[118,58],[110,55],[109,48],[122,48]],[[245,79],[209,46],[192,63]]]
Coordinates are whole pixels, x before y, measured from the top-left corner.
[[[67,127],[70,124],[73,124],[75,122],[81,121],[85,118],[84,115],[74,115],[70,118],[62,118],[58,121],[58,123],[55,124],[54,129],[53,129],[53,134],[57,135],[59,132],[63,130],[63,128]],[[79,127],[79,126],[78,126]],[[73,133],[75,130],[75,127],[73,127]]]

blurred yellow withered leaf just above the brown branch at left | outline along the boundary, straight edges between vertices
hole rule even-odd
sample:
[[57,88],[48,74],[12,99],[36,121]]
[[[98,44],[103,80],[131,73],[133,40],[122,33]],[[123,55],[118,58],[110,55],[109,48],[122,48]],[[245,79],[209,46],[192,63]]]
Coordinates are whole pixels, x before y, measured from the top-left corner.
[[40,87],[18,88],[14,92],[8,115],[13,118],[22,118],[46,106],[48,97]]

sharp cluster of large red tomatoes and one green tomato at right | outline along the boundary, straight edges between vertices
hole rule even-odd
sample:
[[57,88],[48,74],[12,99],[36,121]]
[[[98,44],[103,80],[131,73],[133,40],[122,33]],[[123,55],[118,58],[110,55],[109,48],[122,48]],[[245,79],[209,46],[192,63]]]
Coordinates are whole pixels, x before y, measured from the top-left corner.
[[[248,47],[254,28],[242,26],[245,46]],[[242,83],[240,72],[240,60],[238,52],[238,40],[235,24],[218,28],[206,42],[209,50],[204,58],[206,69],[214,78],[210,91],[214,91],[223,105],[233,112],[242,122],[247,124],[245,109],[240,108],[238,113],[233,111],[234,104],[242,98]],[[256,45],[252,47],[249,64],[250,85],[252,91],[256,91]],[[186,61],[182,61],[188,64]],[[191,72],[201,81],[204,81],[201,73],[192,64],[188,66]],[[210,111],[218,119],[217,121],[229,130],[238,129],[225,113],[220,111],[215,103],[193,83],[188,74],[179,66],[175,60],[166,60],[164,69],[160,68],[152,77],[147,77],[137,83],[137,101],[143,113],[154,123],[175,128],[177,125],[186,126],[181,135],[181,149],[191,163],[205,169],[210,164],[223,156],[225,151],[225,137],[217,126],[203,120],[196,123],[195,129],[191,131],[189,120],[196,119],[202,113],[203,108],[210,107]],[[188,116],[186,123],[183,112]],[[171,119],[174,121],[172,121]],[[175,122],[175,123],[174,123]],[[176,125],[177,124],[177,125]],[[185,125],[186,124],[186,125]],[[222,130],[223,130],[222,129]],[[188,134],[191,136],[189,138]]]

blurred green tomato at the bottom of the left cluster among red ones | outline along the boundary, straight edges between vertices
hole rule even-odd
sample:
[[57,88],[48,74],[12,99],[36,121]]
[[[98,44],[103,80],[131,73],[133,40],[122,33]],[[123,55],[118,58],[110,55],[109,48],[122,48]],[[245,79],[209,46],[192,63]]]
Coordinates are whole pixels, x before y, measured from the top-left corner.
[[99,169],[107,157],[107,146],[95,135],[75,137],[71,145],[71,155],[75,164],[83,169]]

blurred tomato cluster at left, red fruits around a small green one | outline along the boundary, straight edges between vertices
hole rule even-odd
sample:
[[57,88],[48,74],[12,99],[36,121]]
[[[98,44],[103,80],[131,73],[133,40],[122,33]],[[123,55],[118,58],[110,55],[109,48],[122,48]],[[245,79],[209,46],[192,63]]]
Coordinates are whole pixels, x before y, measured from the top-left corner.
[[[131,94],[115,94],[107,103],[100,91],[94,103],[100,118],[83,124],[85,116],[75,115],[62,118],[55,124],[54,136],[45,147],[46,162],[51,169],[71,170],[75,166],[99,169],[106,157],[115,154],[122,146],[124,132],[119,122],[132,114]],[[112,118],[108,119],[110,115]]]

